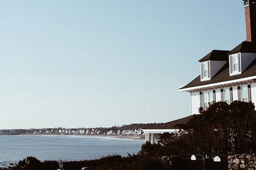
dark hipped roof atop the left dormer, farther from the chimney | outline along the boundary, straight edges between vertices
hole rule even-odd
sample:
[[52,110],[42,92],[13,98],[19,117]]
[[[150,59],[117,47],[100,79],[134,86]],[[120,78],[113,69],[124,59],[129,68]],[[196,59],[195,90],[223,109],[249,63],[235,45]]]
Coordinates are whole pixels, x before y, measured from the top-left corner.
[[208,60],[228,61],[228,55],[227,55],[228,52],[230,51],[212,50],[208,55],[200,59],[199,62],[208,61]]

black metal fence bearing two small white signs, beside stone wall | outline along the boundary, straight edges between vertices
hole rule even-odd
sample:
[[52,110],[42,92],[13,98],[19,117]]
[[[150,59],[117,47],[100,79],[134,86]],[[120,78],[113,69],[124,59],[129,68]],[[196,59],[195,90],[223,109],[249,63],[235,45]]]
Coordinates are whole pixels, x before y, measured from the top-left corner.
[[[191,160],[194,155],[196,160]],[[222,155],[222,154],[220,154]],[[181,156],[186,164],[187,170],[227,170],[228,169],[228,156],[215,155],[220,158],[220,162],[214,162],[213,155],[207,154],[186,154],[181,153]]]

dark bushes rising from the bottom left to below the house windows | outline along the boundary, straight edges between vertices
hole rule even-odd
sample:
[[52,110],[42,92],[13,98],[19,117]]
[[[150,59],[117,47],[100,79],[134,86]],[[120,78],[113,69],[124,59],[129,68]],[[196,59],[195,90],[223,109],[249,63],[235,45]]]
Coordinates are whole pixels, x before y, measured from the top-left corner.
[[[225,102],[211,104],[206,111],[200,108],[198,115],[184,125],[176,125],[180,133],[164,133],[158,143],[145,143],[138,154],[122,157],[119,155],[102,157],[98,160],[65,162],[66,170],[79,170],[83,166],[90,169],[167,169],[162,164],[162,156],[180,155],[182,150],[200,150],[207,154],[214,153],[256,153],[256,111],[251,102],[235,101],[228,105]],[[182,161],[178,156],[176,162]],[[29,167],[38,170],[56,170],[58,162],[40,162],[31,158]],[[33,163],[34,162],[34,163]],[[183,164],[179,162],[179,164]],[[14,170],[24,167],[25,161],[19,162]],[[175,167],[174,165],[172,165]],[[175,168],[173,168],[175,169]]]

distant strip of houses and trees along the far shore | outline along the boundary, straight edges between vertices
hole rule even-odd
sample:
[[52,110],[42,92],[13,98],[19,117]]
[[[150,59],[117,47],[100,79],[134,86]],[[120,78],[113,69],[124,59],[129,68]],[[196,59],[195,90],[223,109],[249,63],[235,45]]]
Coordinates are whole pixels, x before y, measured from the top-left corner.
[[134,123],[130,125],[96,128],[42,128],[42,129],[1,129],[0,135],[143,135],[143,128],[161,123]]

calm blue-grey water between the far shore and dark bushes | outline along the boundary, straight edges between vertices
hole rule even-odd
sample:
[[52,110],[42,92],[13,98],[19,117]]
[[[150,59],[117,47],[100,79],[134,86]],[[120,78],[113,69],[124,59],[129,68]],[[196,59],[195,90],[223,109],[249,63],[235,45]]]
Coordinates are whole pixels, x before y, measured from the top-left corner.
[[142,140],[88,137],[0,135],[0,165],[18,162],[27,156],[39,160],[84,160],[108,154],[126,156],[140,150]]

